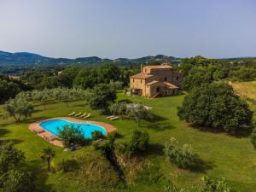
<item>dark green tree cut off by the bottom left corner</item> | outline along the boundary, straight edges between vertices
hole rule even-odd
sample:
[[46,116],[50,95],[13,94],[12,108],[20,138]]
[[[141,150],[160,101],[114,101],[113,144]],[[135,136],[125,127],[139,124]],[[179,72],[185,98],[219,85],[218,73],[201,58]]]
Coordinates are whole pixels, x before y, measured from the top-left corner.
[[1,143],[0,162],[0,191],[36,191],[35,178],[26,168],[25,155],[14,148],[14,143]]

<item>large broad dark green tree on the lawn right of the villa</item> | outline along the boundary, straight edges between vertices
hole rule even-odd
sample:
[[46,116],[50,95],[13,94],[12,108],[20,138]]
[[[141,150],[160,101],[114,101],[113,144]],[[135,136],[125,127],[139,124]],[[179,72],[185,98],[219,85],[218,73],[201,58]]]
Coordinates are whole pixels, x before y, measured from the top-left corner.
[[199,126],[237,131],[251,127],[253,112],[225,83],[204,84],[185,96],[177,115]]

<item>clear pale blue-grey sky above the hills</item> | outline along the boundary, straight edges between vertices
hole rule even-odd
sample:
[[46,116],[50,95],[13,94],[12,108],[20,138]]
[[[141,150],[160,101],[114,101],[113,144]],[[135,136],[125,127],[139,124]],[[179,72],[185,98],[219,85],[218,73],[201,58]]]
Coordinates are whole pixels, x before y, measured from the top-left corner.
[[0,0],[0,50],[68,58],[256,56],[256,0]]

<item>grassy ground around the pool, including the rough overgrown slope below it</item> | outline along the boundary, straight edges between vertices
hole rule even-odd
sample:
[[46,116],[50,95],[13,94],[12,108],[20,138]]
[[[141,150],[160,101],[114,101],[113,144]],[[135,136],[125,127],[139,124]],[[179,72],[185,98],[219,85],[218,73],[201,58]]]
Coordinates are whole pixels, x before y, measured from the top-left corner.
[[[1,140],[11,140],[15,148],[25,152],[29,168],[36,170],[36,183],[45,191],[86,191],[86,188],[94,191],[167,191],[166,178],[193,191],[191,186],[196,185],[205,174],[208,177],[225,177],[233,189],[253,191],[256,187],[256,152],[250,138],[195,129],[179,120],[177,107],[181,106],[183,97],[146,99],[119,92],[118,101],[129,100],[152,108],[154,119],[143,120],[140,125],[131,119],[111,121],[100,111],[92,110],[84,101],[69,102],[68,106],[56,101],[45,103],[45,106],[38,104],[34,108],[36,113],[22,122],[16,123],[13,118],[1,120]],[[73,111],[89,112],[92,114],[91,120],[114,125],[120,135],[116,143],[129,143],[136,130],[147,131],[148,149],[140,159],[119,163],[119,170],[116,170],[92,145],[63,152],[63,148],[47,143],[28,129],[28,125],[34,121],[67,116]],[[172,137],[177,139],[180,146],[188,143],[193,147],[204,162],[200,170],[183,169],[166,160],[164,145]],[[47,171],[47,164],[39,156],[48,147],[55,151],[55,157],[51,160],[52,172]],[[64,172],[61,168],[63,165],[72,166],[67,166]],[[121,184],[120,179],[124,180]]]

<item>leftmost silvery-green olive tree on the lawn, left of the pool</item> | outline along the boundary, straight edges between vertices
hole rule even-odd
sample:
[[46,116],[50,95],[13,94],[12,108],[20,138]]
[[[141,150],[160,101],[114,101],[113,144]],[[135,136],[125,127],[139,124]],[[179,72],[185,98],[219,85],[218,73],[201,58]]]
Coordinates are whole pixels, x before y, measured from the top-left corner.
[[6,115],[14,117],[16,122],[20,122],[21,119],[26,119],[28,116],[31,116],[33,112],[32,104],[22,96],[5,102],[3,109]]

